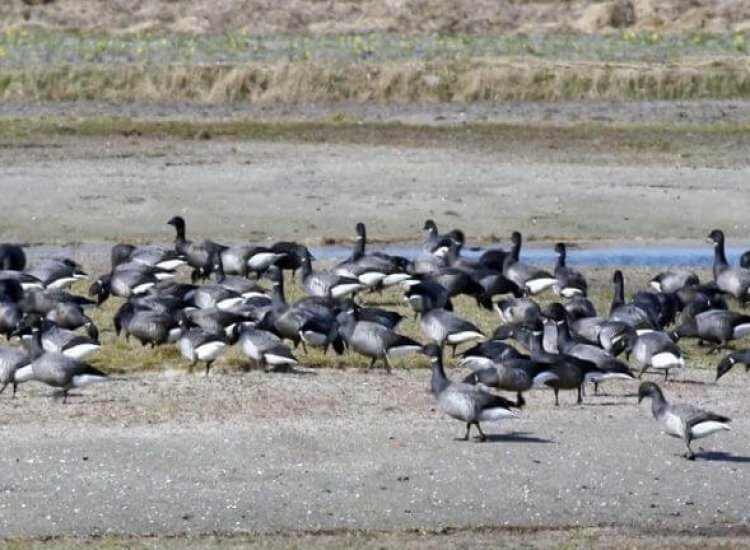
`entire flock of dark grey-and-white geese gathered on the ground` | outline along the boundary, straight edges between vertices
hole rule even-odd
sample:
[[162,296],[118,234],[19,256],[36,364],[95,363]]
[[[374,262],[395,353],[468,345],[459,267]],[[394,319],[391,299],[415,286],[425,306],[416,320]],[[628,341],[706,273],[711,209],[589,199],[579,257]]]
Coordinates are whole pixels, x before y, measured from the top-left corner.
[[[266,370],[294,368],[298,346],[305,353],[308,347],[350,350],[369,358],[371,366],[382,362],[388,372],[394,358],[423,353],[431,362],[437,403],[465,424],[465,440],[472,427],[479,440],[486,438],[483,421],[516,416],[530,390],[552,388],[555,405],[561,390],[576,391],[580,404],[587,383],[597,392],[603,382],[647,372],[663,374],[666,382],[671,370],[685,364],[680,339],[698,339],[711,353],[750,334],[750,317],[728,304],[734,299],[745,307],[750,301],[750,254],[739,267],[729,265],[720,230],[709,235],[712,281],[669,270],[626,300],[623,275],[616,271],[610,309],[598,313],[587,297],[586,277],[566,263],[565,245],[556,245],[557,263],[546,271],[522,260],[518,232],[510,250],[492,248],[468,258],[462,255],[462,231],[441,234],[428,220],[423,250],[405,258],[367,250],[359,223],[350,257],[316,270],[310,251],[295,242],[224,246],[189,240],[180,216],[167,223],[176,232],[174,247],[115,245],[111,270],[96,278],[88,297],[66,290],[89,278],[75,261],[51,258],[27,267],[20,246],[0,245],[0,333],[26,342],[0,348],[0,392],[10,385],[15,396],[19,384],[35,380],[61,388],[66,402],[71,388],[106,380],[105,372],[86,363],[101,346],[86,311],[111,296],[122,299],[113,319],[118,337],[151,347],[176,343],[191,370],[202,364],[206,375],[235,343]],[[183,268],[190,283],[176,278]],[[306,295],[289,303],[284,285],[295,279]],[[363,304],[366,293],[388,287],[402,290],[427,345],[398,332],[402,315]],[[547,291],[559,301],[542,307],[534,296]],[[458,295],[496,310],[500,326],[488,335],[456,313]],[[445,346],[471,371],[460,382],[445,373]],[[735,364],[750,369],[750,350],[722,358],[717,380]],[[512,392],[515,399],[493,390]],[[668,403],[654,382],[640,384],[638,401],[644,398],[651,399],[665,432],[683,439],[690,459],[694,439],[729,429],[725,416]]]

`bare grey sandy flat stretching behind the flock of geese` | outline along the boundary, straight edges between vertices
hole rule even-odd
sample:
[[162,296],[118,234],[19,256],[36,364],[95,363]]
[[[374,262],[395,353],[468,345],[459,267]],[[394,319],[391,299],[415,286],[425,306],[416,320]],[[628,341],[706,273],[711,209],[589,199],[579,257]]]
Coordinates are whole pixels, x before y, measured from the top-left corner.
[[[648,139],[648,138],[644,138]],[[744,139],[744,138],[743,138]],[[496,147],[493,147],[496,145]],[[617,150],[500,136],[480,150],[409,143],[336,144],[151,138],[33,139],[0,147],[9,201],[0,239],[165,241],[193,238],[414,241],[434,218],[472,240],[730,241],[748,231],[744,142],[704,144],[731,158],[706,167],[676,151]],[[687,156],[685,156],[687,155]],[[6,202],[7,204],[7,202]],[[730,243],[731,244],[731,243]]]

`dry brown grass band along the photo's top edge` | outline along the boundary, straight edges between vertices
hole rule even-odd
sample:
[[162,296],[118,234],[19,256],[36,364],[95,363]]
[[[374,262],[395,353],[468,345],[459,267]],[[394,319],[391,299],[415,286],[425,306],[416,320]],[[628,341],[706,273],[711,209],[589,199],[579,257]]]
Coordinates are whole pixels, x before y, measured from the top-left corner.
[[[42,2],[35,1],[40,4]],[[0,2],[3,28],[135,33],[253,34],[341,32],[476,33],[529,30],[600,31],[632,24],[661,30],[747,29],[745,0],[56,0]],[[629,14],[624,17],[623,14]]]

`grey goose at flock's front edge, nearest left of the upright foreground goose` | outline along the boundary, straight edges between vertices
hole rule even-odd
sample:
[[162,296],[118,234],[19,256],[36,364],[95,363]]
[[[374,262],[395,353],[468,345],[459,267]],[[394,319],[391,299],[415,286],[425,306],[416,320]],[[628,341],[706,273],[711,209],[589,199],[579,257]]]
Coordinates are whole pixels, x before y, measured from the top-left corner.
[[391,357],[422,350],[422,344],[408,336],[372,321],[359,320],[356,310],[341,312],[338,322],[339,333],[347,345],[371,359],[370,368],[375,366],[378,359],[382,359],[386,372],[390,373],[393,368]]

